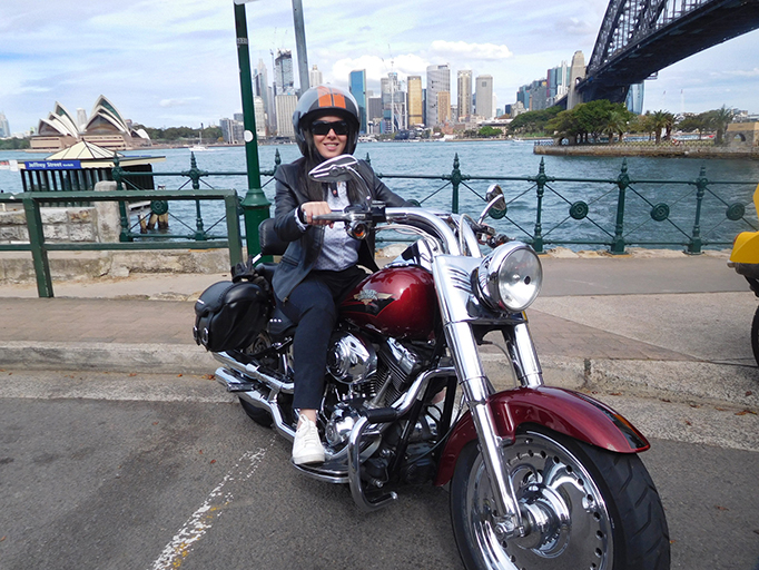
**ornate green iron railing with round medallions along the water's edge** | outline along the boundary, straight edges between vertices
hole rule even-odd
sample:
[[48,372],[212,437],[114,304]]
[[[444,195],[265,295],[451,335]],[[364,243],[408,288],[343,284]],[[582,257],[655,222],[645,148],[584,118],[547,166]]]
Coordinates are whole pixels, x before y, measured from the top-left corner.
[[[368,155],[365,159],[371,163]],[[260,174],[274,176],[280,163],[277,151],[274,168],[260,170]],[[200,184],[210,187],[204,178],[245,176],[246,173],[203,170],[197,167],[195,156],[191,155],[189,170],[147,175],[184,177],[187,180],[180,189],[191,184],[193,189],[197,190]],[[130,176],[134,175],[119,171],[118,165],[114,170],[114,179],[119,187]],[[146,173],[140,173],[139,176],[146,176]],[[620,173],[614,178],[574,178],[549,176],[541,158],[535,176],[474,176],[462,171],[456,154],[453,168],[446,174],[377,171],[377,176],[384,179],[442,180],[443,185],[415,202],[423,206],[430,204],[434,197],[440,202],[438,195],[450,190],[450,208],[455,214],[460,212],[462,193],[469,191],[484,203],[485,191],[479,190],[475,185],[485,181],[502,184],[507,202],[507,212],[502,224],[507,226],[510,235],[512,230],[516,230],[519,238],[530,243],[539,253],[543,253],[546,246],[566,245],[605,246],[612,254],[624,254],[627,246],[684,247],[688,253],[699,254],[704,246],[729,246],[732,237],[741,230],[758,229],[756,216],[746,216],[747,207],[752,207],[750,198],[742,203],[729,202],[731,198],[726,199],[717,191],[717,188],[724,186],[752,189],[757,181],[710,180],[707,178],[706,167],[700,167],[698,176],[690,180],[659,180],[633,177],[628,171],[627,160],[622,160]],[[266,187],[272,180],[269,178],[263,186]],[[414,189],[418,191],[417,187]],[[578,196],[578,193],[584,195]],[[473,208],[470,206],[470,209]],[[723,226],[724,224],[732,225]],[[126,219],[122,219],[122,227],[129,228]],[[720,227],[721,237],[717,234]],[[145,237],[130,229],[125,232],[124,240]],[[668,232],[670,235],[667,235]],[[566,234],[583,237],[566,237]],[[652,234],[662,237],[653,239],[650,237]],[[164,237],[172,236],[166,234]],[[199,203],[195,235],[191,237],[197,240],[215,238],[205,229]]]

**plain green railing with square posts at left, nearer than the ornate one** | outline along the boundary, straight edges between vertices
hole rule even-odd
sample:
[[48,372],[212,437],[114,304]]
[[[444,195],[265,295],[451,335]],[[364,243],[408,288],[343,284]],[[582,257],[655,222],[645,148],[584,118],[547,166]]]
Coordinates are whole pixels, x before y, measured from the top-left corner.
[[[158,199],[158,200],[224,200],[227,237],[215,242],[198,244],[195,240],[174,242],[142,242],[142,243],[47,243],[42,228],[40,204],[69,200],[82,202],[119,202],[130,199]],[[31,252],[34,274],[37,276],[37,291],[40,297],[52,297],[52,279],[50,277],[50,264],[48,252],[56,250],[111,250],[111,249],[178,249],[178,248],[228,248],[229,263],[236,265],[243,261],[243,242],[240,238],[239,216],[237,213],[239,198],[235,190],[117,190],[117,191],[34,191],[20,194],[0,194],[0,204],[23,205],[29,230],[28,244],[0,244],[0,252]]]

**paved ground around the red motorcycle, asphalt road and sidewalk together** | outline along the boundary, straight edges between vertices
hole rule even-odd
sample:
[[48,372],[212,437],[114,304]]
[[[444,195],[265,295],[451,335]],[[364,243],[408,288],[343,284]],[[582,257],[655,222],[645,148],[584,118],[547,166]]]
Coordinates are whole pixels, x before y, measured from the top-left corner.
[[[650,438],[642,459],[672,569],[753,569],[758,301],[745,279],[713,253],[543,265],[529,316],[545,380],[609,403]],[[0,285],[3,568],[461,570],[447,493],[408,488],[367,517],[347,490],[295,472],[288,442],[213,380],[215,361],[191,340],[193,299],[223,277],[57,282],[56,298]],[[503,355],[482,357],[509,385]],[[204,531],[183,542],[196,515]],[[294,535],[293,520],[308,533]],[[335,535],[348,539],[326,559]]]

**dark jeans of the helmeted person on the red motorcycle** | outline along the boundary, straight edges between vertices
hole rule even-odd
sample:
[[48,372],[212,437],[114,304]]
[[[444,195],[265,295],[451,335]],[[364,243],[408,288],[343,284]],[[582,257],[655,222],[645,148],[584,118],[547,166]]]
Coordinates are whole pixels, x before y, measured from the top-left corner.
[[296,324],[293,341],[293,407],[319,409],[329,336],[337,322],[337,304],[365,277],[366,272],[357,266],[342,272],[314,271],[293,289],[287,303],[277,298],[282,311]]

